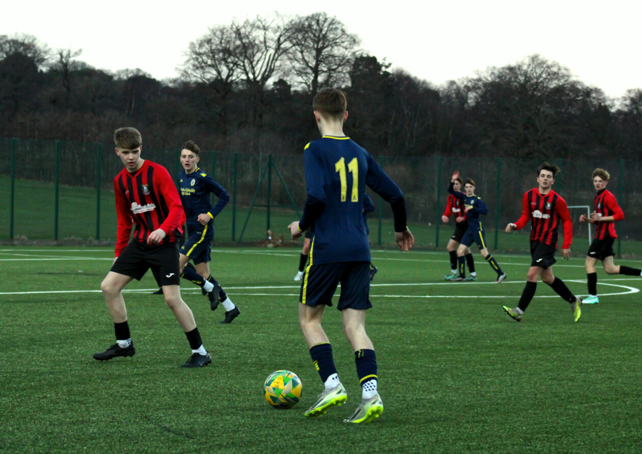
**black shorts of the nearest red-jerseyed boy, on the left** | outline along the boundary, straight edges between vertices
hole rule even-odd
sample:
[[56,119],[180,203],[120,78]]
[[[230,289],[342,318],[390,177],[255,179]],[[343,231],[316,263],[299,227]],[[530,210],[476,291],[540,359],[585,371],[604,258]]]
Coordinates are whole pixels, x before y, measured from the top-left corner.
[[148,245],[141,241],[130,241],[111,270],[140,281],[150,268],[160,285],[179,285],[178,245]]

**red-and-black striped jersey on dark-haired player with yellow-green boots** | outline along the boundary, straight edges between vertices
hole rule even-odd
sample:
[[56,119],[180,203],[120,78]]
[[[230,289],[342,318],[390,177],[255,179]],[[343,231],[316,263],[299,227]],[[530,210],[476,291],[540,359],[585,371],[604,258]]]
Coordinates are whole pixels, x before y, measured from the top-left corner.
[[557,248],[560,220],[564,227],[564,243],[562,249],[569,249],[573,243],[573,222],[568,212],[566,200],[558,193],[551,190],[548,194],[539,193],[538,188],[526,191],[522,198],[522,214],[515,223],[517,229],[521,229],[528,223],[532,223],[530,231],[531,241],[541,241],[548,245],[555,245]]

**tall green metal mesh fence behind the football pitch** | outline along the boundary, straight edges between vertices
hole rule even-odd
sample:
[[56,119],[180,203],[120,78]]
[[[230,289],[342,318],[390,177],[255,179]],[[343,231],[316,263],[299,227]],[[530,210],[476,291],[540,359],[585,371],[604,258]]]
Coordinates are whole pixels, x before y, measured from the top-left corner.
[[[399,184],[406,197],[408,223],[418,247],[443,248],[454,229],[444,225],[447,185],[453,170],[476,182],[476,194],[489,207],[483,220],[487,243],[493,250],[528,250],[528,232],[507,234],[503,228],[521,213],[523,193],[536,186],[541,160],[495,157],[387,157],[373,155]],[[143,158],[166,166],[171,175],[181,170],[178,150],[143,148]],[[626,218],[617,223],[618,254],[642,256],[638,226],[642,207],[637,204],[642,175],[639,161],[604,159],[561,160],[551,157],[562,172],[553,189],[569,205],[592,205],[591,172],[596,167],[611,173],[609,190],[616,195]],[[304,204],[305,175],[302,154],[257,155],[240,152],[201,152],[200,166],[214,175],[231,195],[230,204],[215,220],[216,243],[265,241],[271,229],[288,240],[287,225],[297,220]],[[113,146],[0,137],[0,240],[101,240],[116,238],[114,176],[122,164]],[[626,184],[626,191],[625,191]],[[392,212],[371,194],[376,210],[370,218],[370,240],[375,246],[392,243]],[[587,225],[574,219],[573,251],[588,244]],[[586,209],[585,209],[586,212]],[[527,230],[527,229],[525,229]]]

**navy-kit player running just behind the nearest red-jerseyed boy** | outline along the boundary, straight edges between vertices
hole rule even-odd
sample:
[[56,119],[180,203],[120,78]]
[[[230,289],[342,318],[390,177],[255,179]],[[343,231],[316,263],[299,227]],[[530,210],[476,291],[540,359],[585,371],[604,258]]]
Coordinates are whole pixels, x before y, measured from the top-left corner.
[[[225,319],[221,323],[231,323],[240,314],[230,297],[210,274],[210,242],[214,238],[213,220],[230,196],[212,177],[198,168],[200,148],[193,141],[183,144],[180,152],[180,163],[183,170],[178,174],[180,200],[183,202],[187,216],[187,234],[189,238],[180,248],[181,277],[204,288],[209,295],[210,307],[215,310],[219,301],[225,308]],[[209,201],[213,193],[218,197],[214,207]],[[187,267],[189,260],[194,262],[196,271]]]

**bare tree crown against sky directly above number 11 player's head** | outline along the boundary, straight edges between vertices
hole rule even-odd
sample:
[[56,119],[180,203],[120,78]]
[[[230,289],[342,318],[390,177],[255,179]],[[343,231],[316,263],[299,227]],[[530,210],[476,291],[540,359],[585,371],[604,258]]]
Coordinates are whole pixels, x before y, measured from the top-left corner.
[[319,12],[297,17],[292,29],[288,57],[296,82],[315,94],[320,87],[349,81],[348,72],[360,39],[348,33],[343,22]]

